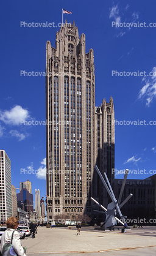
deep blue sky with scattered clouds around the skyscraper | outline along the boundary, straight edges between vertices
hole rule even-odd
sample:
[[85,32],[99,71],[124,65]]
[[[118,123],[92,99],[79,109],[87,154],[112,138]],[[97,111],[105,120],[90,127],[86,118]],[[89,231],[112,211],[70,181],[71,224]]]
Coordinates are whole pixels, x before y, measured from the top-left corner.
[[[46,42],[50,40],[55,47],[62,8],[72,12],[63,15],[63,21],[75,21],[79,36],[85,34],[86,52],[94,50],[96,106],[103,98],[108,102],[113,97],[116,170],[129,168],[129,178],[134,179],[156,173],[155,7],[154,0],[1,1],[0,149],[12,162],[15,187],[29,179],[33,193],[40,189],[41,196],[46,194],[43,72]],[[40,25],[30,27],[33,22]],[[52,27],[45,28],[46,22],[53,23]],[[41,75],[26,76],[26,72]],[[21,120],[37,121],[38,126],[21,124]],[[135,170],[146,171],[135,174]]]

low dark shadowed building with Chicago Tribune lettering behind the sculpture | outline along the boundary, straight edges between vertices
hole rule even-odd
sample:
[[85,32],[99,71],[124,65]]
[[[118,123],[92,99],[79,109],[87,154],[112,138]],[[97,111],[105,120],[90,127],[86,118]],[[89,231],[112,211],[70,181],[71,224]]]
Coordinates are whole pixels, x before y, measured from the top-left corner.
[[[128,218],[155,218],[155,177],[146,179],[127,179],[121,203],[132,194],[127,203],[122,206],[122,213]],[[123,179],[115,179],[115,195],[119,197]],[[144,222],[145,223],[145,222]]]

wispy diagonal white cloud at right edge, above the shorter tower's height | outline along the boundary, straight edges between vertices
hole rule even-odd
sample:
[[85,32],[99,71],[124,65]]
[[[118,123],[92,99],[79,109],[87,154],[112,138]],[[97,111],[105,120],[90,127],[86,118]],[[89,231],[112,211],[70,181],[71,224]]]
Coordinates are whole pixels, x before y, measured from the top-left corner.
[[142,81],[145,81],[146,85],[140,89],[138,99],[146,99],[146,106],[149,107],[156,97],[156,67],[150,72],[152,76],[146,76]]

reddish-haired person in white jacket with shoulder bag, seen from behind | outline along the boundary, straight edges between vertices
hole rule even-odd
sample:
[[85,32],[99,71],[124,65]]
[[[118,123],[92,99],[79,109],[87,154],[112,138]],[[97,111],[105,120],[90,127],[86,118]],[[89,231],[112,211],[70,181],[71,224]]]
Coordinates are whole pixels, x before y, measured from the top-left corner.
[[[11,244],[16,254],[19,256],[26,256],[24,249],[21,246],[21,239],[16,228],[18,227],[18,219],[16,217],[9,217],[6,221],[7,230],[1,236],[1,252],[4,244]],[[12,238],[13,234],[13,238]]]

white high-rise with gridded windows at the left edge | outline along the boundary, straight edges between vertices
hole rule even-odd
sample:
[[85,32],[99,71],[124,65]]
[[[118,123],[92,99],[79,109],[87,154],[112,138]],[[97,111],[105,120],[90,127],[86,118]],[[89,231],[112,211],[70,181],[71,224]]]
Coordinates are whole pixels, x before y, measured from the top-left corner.
[[4,150],[0,150],[0,189],[0,216],[2,223],[12,216],[11,162]]

